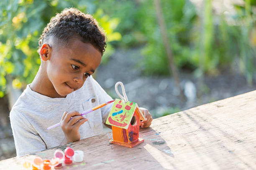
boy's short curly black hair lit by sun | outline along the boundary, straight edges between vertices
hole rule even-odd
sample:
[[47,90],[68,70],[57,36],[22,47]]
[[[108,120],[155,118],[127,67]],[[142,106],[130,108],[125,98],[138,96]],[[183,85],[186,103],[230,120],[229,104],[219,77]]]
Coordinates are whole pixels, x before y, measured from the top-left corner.
[[52,37],[55,42],[65,43],[66,45],[73,38],[77,38],[82,42],[89,42],[101,54],[103,54],[107,46],[105,32],[100,28],[92,15],[84,14],[73,7],[66,8],[60,14],[51,18],[50,23],[44,28],[39,39],[39,49],[46,40]]

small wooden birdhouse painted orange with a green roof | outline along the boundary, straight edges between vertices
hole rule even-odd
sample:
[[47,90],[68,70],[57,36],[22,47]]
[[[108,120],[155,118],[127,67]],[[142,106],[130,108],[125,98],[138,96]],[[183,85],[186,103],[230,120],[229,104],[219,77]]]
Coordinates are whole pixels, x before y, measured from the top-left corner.
[[106,121],[112,126],[113,140],[110,142],[129,148],[143,143],[144,140],[139,138],[141,120],[146,118],[137,103],[115,99]]

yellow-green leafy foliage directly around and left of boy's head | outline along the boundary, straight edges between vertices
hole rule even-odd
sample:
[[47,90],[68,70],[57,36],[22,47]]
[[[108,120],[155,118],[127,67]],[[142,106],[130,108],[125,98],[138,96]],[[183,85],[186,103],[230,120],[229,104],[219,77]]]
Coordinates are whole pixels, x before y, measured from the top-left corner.
[[[5,94],[7,75],[14,79],[13,87],[16,88],[32,82],[41,63],[36,52],[38,38],[51,17],[66,7],[76,7],[87,13],[94,6],[93,2],[83,0],[1,0],[0,97]],[[110,18],[98,7],[93,16],[107,32],[108,47],[104,60],[114,51],[110,42],[121,39],[120,33],[114,31],[119,19]]]

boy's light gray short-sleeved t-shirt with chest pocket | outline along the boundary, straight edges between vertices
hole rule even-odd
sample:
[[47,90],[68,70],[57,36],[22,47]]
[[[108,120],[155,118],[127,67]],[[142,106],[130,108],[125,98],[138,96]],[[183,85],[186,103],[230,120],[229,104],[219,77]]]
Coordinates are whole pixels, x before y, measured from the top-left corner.
[[[32,91],[28,85],[10,111],[17,156],[59,146],[64,140],[61,127],[51,130],[46,128],[60,122],[64,111],[83,112],[109,100],[112,98],[92,76],[87,78],[79,90],[65,98],[41,95]],[[79,128],[80,139],[103,133],[103,123],[112,105],[106,105],[84,116],[88,121]]]

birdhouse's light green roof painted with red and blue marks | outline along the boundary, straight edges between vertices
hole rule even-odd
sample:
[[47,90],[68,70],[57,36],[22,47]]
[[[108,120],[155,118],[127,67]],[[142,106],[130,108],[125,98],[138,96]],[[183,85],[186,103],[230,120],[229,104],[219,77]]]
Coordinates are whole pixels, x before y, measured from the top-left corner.
[[106,124],[128,129],[135,112],[138,112],[140,120],[146,120],[136,102],[128,101],[125,103],[123,100],[115,99]]

